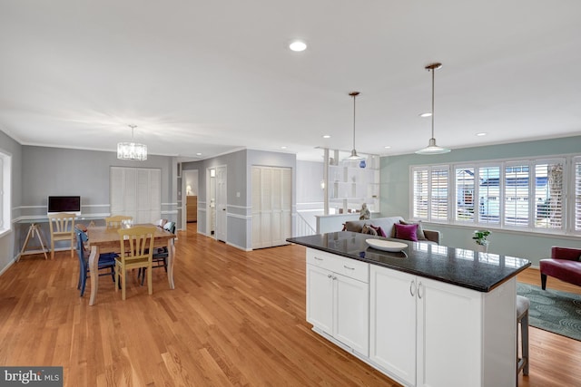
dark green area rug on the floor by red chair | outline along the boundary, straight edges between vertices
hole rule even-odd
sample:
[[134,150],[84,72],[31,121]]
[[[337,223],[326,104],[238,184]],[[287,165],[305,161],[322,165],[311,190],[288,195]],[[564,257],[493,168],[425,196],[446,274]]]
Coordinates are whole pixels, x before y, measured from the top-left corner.
[[530,300],[529,325],[581,341],[581,295],[520,282],[517,295]]

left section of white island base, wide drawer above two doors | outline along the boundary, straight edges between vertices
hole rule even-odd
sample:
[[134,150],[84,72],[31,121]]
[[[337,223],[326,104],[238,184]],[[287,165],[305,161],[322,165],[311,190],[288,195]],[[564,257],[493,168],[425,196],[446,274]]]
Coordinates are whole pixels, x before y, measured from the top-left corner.
[[307,321],[369,355],[369,264],[307,249]]

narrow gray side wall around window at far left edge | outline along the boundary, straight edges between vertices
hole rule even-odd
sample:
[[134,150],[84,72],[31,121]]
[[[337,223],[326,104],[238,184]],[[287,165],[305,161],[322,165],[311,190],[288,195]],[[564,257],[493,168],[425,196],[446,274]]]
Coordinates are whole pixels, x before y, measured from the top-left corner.
[[[0,149],[12,156],[12,214],[13,219],[20,216],[22,197],[22,145],[0,131]],[[14,227],[14,225],[13,225]],[[15,243],[16,233],[5,234],[0,237],[0,273],[14,262],[14,257],[20,252],[20,245]]]

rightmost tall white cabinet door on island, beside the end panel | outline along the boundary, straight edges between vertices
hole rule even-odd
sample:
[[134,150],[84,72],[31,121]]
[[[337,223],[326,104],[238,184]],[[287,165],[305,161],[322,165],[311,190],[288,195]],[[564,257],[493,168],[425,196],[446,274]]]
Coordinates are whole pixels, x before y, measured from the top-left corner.
[[[481,386],[482,293],[427,278],[417,280],[418,386]],[[512,361],[516,364],[516,359]]]

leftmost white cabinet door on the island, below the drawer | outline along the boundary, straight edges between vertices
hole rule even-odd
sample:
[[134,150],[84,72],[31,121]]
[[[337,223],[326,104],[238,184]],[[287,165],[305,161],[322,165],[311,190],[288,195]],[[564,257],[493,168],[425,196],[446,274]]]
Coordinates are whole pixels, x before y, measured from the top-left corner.
[[333,278],[329,270],[307,265],[307,321],[333,334]]

